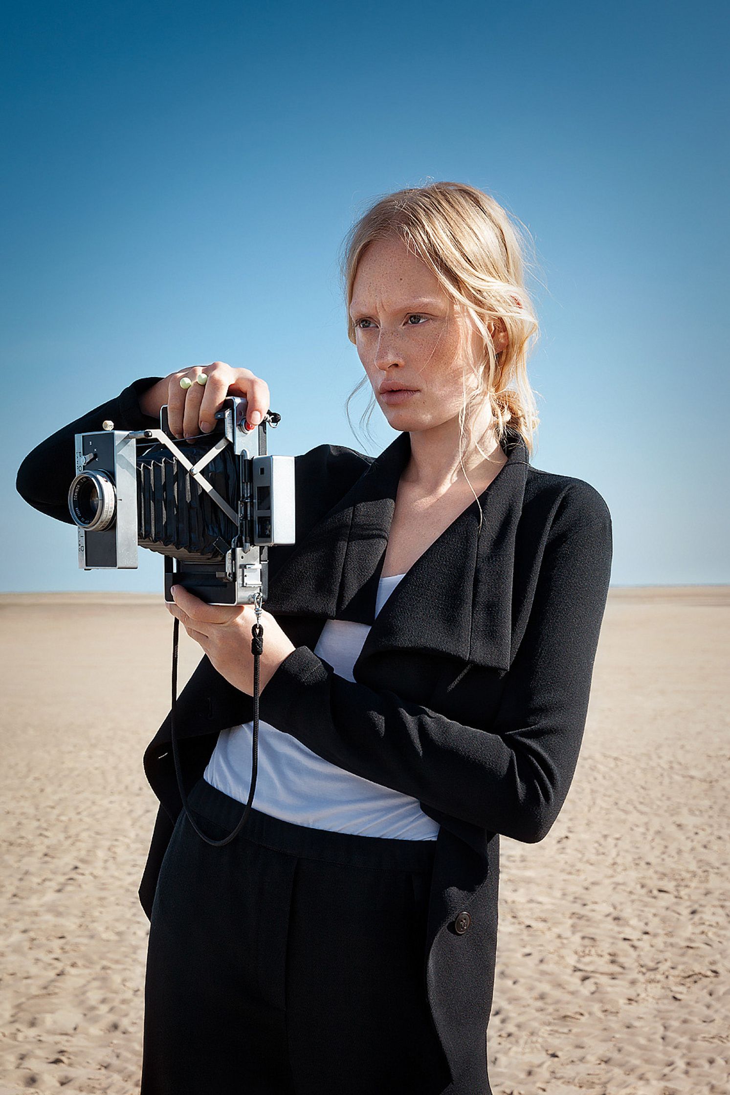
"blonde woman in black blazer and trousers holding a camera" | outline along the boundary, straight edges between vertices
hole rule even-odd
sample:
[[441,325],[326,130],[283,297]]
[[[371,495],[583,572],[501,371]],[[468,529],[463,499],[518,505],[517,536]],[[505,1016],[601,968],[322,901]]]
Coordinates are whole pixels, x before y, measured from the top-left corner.
[[[297,460],[239,838],[212,848],[181,810],[170,717],[147,749],[142,1095],[489,1095],[499,838],[542,840],[578,759],[611,517],[590,484],[530,464],[518,235],[488,195],[436,183],[375,203],[344,272],[349,336],[398,436],[376,459]],[[34,450],[19,489],[69,519],[77,430],[141,428],[166,404],[175,435],[197,435],[228,393],[252,427],[268,408],[265,382],[224,362],[136,381]],[[205,655],[176,729],[195,818],[219,838],[251,781],[253,610],[183,589],[170,609]]]

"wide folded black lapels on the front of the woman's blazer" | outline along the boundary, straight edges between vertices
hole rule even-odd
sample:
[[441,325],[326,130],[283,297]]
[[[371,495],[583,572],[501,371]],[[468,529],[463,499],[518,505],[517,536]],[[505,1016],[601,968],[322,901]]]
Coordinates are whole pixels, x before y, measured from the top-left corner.
[[[529,453],[509,428],[507,463],[418,558],[375,618],[378,583],[409,435],[396,439],[294,548],[271,579],[266,608],[371,625],[354,676],[372,654],[427,650],[507,670],[512,572]],[[313,485],[313,489],[316,485]]]

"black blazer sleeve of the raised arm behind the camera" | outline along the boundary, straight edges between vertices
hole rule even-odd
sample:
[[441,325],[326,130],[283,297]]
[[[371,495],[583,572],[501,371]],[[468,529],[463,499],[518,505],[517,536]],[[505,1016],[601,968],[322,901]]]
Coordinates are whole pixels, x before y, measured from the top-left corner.
[[102,429],[105,418],[111,418],[116,429],[157,429],[159,417],[142,414],[139,399],[161,379],[144,377],[132,381],[113,400],[94,407],[36,445],[18,470],[18,493],[42,514],[73,525],[68,494],[76,477],[76,434]]

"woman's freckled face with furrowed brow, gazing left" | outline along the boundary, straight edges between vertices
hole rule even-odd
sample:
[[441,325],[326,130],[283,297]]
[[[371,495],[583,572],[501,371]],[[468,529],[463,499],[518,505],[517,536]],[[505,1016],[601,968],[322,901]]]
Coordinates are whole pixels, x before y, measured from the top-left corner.
[[366,249],[350,315],[359,358],[394,429],[431,429],[457,416],[464,383],[467,392],[475,384],[470,357],[476,358],[482,341],[436,274],[398,237]]

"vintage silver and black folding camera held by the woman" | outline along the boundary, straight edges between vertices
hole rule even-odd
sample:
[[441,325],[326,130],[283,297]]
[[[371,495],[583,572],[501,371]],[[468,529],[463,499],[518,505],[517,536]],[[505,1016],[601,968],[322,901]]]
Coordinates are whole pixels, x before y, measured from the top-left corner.
[[170,431],[166,406],[160,429],[77,434],[79,566],[134,569],[148,548],[164,555],[166,601],[175,584],[208,604],[265,600],[267,548],[294,542],[294,458],[266,454],[280,415],[248,431],[245,410],[229,396],[216,429],[189,440]]

